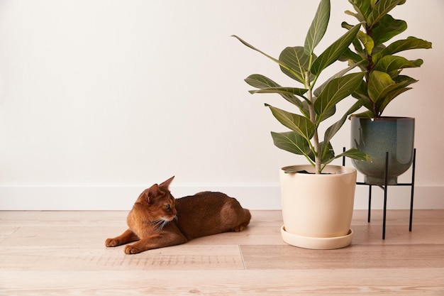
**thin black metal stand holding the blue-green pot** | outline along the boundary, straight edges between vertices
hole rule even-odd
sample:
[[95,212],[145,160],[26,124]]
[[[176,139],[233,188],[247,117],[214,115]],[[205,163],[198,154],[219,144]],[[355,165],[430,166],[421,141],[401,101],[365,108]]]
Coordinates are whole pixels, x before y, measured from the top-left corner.
[[[345,148],[344,148],[345,151]],[[343,158],[343,166],[345,165],[345,157]],[[411,168],[411,182],[410,183],[397,183],[396,185],[388,185],[388,170],[389,170],[389,152],[385,153],[385,169],[384,169],[384,185],[375,185],[366,182],[356,182],[356,185],[367,185],[369,187],[369,203],[368,203],[368,216],[367,221],[370,223],[370,213],[372,207],[372,186],[377,186],[384,190],[384,215],[382,218],[382,239],[385,239],[385,225],[387,217],[387,189],[389,186],[411,186],[410,194],[410,221],[409,231],[411,231],[411,225],[413,221],[413,209],[414,209],[414,190],[415,190],[415,165],[416,165],[416,148],[414,148],[414,160]]]

